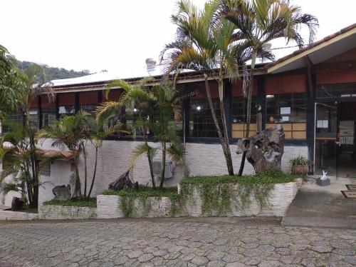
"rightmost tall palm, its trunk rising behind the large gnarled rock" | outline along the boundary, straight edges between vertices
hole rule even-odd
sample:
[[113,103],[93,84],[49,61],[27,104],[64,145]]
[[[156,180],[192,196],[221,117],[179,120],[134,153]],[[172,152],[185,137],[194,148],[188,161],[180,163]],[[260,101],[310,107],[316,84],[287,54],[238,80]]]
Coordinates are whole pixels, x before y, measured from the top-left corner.
[[[236,26],[234,39],[251,46],[252,60],[247,91],[246,133],[248,138],[251,122],[251,98],[253,70],[258,51],[270,41],[278,38],[295,41],[301,48],[304,40],[299,31],[302,26],[309,29],[309,43],[313,42],[318,20],[310,14],[300,12],[300,6],[290,4],[289,0],[219,0],[216,17],[227,19]],[[246,95],[246,90],[244,90]],[[239,175],[244,171],[246,152],[243,153]]]

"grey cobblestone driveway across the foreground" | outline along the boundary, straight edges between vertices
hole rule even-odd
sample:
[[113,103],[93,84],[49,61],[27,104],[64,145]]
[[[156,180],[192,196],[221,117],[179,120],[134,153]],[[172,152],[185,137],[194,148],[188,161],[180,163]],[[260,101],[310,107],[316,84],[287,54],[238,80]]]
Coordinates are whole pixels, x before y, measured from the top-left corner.
[[355,266],[355,251],[356,231],[276,223],[0,224],[0,266],[338,267]]

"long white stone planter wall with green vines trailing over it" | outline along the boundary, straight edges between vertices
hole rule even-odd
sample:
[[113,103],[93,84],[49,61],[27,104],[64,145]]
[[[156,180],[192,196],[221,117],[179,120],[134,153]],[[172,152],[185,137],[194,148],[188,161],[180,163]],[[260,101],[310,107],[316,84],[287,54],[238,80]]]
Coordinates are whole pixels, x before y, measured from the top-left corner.
[[[200,196],[199,185],[192,185],[189,195],[185,196],[182,206],[179,202],[170,198],[147,198],[147,201],[140,198],[124,198],[122,196],[104,196],[97,198],[98,218],[150,218],[150,217],[172,217],[172,216],[283,216],[289,204],[293,201],[302,180],[291,183],[278,183],[270,191],[268,196],[268,206],[260,207],[258,202],[251,196],[251,203],[246,208],[241,209],[241,201],[236,195],[236,187],[233,186],[230,198],[230,209],[220,213],[214,209],[203,211],[201,206],[203,200]],[[219,185],[218,185],[219,186]],[[124,202],[122,202],[124,201]],[[125,210],[124,210],[125,209]]]

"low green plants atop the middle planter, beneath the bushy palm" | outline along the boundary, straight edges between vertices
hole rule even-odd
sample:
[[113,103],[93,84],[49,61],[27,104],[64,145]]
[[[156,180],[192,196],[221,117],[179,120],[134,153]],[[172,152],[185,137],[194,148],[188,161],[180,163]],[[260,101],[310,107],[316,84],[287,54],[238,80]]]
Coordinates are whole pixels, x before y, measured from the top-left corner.
[[125,188],[120,191],[108,189],[103,191],[103,195],[127,196],[131,198],[149,198],[154,196],[176,198],[178,196],[178,191],[176,187],[153,188],[150,186],[139,186],[138,191]]

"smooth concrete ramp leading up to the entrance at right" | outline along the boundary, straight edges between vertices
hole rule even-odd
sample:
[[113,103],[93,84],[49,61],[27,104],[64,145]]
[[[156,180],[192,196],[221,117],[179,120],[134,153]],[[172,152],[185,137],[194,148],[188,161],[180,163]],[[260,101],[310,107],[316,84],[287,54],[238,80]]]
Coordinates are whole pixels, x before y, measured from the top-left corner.
[[330,186],[304,183],[289,206],[283,224],[356,229],[356,198],[345,198],[341,190],[355,179],[332,179]]

